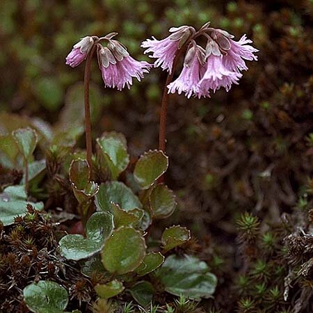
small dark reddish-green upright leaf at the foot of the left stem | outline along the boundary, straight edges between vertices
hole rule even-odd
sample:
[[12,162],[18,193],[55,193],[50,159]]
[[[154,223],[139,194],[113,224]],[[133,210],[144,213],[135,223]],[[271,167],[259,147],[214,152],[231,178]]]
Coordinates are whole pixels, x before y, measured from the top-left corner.
[[73,160],[70,165],[70,182],[83,190],[90,180],[90,167],[86,160]]

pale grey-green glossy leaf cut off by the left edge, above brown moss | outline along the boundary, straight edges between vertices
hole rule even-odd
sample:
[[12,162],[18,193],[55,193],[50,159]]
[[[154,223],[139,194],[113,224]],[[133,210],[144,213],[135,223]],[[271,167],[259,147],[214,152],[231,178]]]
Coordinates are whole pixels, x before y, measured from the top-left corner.
[[0,220],[3,225],[14,223],[14,218],[26,214],[27,204],[31,204],[36,210],[42,210],[42,202],[27,201],[27,195],[24,186],[9,186],[0,193]]

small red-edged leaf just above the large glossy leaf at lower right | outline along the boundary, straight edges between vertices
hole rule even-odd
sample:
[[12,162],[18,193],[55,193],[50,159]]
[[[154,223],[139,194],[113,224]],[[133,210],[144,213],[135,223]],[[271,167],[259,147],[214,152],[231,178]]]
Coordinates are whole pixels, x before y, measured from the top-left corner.
[[162,234],[163,249],[168,251],[176,246],[185,243],[190,239],[190,231],[186,227],[172,226],[166,228]]

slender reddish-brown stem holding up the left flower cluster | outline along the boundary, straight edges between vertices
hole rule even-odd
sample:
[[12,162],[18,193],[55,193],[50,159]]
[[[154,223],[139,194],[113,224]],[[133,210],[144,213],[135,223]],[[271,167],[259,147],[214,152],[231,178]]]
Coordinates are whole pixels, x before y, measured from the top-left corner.
[[91,138],[91,121],[90,121],[90,104],[89,104],[89,81],[90,81],[90,64],[93,58],[93,53],[95,52],[96,45],[91,48],[85,65],[85,74],[83,77],[83,90],[85,95],[85,132],[86,132],[86,151],[87,151],[87,161],[92,167],[91,158],[93,156],[93,141]]

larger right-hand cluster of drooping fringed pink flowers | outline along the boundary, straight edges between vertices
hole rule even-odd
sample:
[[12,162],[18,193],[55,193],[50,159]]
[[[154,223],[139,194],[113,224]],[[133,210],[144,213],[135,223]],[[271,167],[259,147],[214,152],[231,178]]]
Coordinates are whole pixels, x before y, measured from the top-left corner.
[[[257,60],[255,52],[258,50],[250,44],[252,41],[243,35],[237,42],[233,35],[221,29],[204,24],[200,31],[195,32],[189,26],[170,29],[172,33],[163,40],[146,40],[141,47],[147,48],[145,53],[157,58],[154,66],[172,72],[175,57],[179,49],[188,40],[188,49],[184,67],[179,77],[168,85],[168,93],[185,93],[186,97],[209,97],[210,90],[214,92],[220,87],[230,90],[232,83],[238,83],[242,70],[248,70],[245,60]],[[196,44],[195,38],[204,35],[207,39],[206,48]]]

